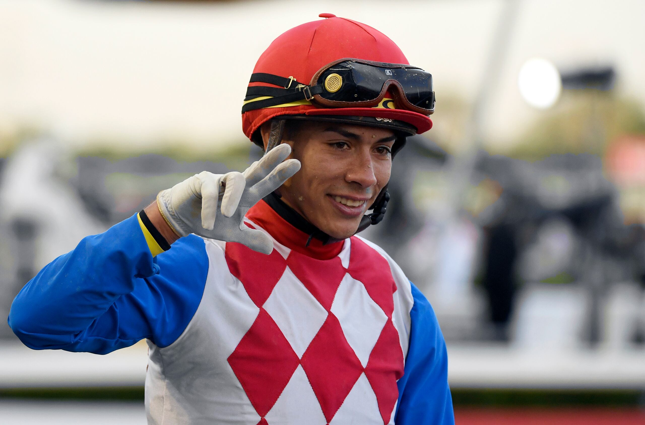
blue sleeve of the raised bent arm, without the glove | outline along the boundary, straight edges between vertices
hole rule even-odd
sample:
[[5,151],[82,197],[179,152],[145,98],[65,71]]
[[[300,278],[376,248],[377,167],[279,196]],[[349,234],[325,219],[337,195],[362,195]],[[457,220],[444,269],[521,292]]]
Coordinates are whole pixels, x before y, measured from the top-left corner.
[[168,346],[197,310],[207,272],[203,239],[183,237],[153,259],[134,215],[45,266],[8,323],[34,350],[105,354],[144,338]]

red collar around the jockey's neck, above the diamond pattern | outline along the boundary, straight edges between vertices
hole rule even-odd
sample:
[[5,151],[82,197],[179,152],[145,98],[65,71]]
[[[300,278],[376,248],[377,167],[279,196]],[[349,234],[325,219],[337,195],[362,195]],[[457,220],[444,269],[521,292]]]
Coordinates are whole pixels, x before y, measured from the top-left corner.
[[255,224],[266,230],[273,236],[273,238],[286,246],[319,260],[328,260],[336,257],[341,253],[344,241],[333,242],[331,244],[323,245],[323,242],[313,238],[307,244],[309,235],[298,230],[288,221],[283,219],[273,208],[269,206],[264,200],[259,201],[246,212],[246,218],[253,221]]

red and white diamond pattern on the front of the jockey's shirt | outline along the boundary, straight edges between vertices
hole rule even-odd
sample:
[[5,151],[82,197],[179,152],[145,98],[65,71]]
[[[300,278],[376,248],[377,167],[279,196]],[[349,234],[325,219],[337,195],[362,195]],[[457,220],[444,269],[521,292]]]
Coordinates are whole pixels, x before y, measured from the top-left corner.
[[228,364],[258,424],[388,424],[403,373],[388,262],[356,237],[317,260],[227,243],[233,276],[259,308]]

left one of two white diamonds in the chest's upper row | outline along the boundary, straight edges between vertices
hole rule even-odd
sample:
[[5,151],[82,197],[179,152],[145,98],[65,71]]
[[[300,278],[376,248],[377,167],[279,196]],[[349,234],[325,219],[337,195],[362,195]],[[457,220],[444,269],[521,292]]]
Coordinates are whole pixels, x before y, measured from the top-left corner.
[[288,267],[263,307],[298,357],[303,356],[329,314]]

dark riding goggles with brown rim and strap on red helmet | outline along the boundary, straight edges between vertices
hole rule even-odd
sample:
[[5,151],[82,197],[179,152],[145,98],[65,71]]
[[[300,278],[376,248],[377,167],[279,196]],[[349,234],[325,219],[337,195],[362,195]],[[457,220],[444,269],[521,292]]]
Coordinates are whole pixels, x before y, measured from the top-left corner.
[[250,83],[269,83],[279,87],[253,86],[246,90],[242,112],[261,108],[313,103],[332,108],[374,107],[393,109],[385,96],[389,92],[397,109],[423,115],[435,110],[432,75],[406,64],[339,59],[313,74],[310,84],[293,77],[255,73]]

